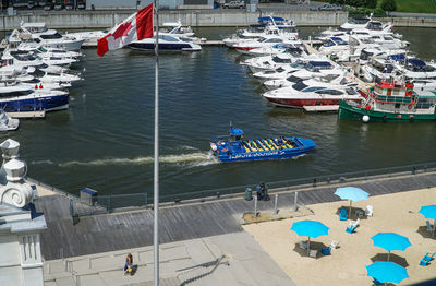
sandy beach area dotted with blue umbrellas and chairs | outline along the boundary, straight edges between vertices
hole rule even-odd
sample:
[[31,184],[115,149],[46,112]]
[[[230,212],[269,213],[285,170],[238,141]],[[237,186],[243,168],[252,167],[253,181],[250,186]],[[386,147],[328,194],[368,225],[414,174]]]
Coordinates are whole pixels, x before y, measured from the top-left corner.
[[[308,205],[313,215],[243,227],[296,285],[304,286],[372,285],[365,266],[376,260],[386,261],[387,251],[373,246],[371,237],[380,231],[397,233],[408,237],[412,246],[405,251],[392,251],[390,261],[407,266],[409,278],[402,281],[401,285],[409,285],[436,277],[436,261],[425,267],[419,265],[426,252],[436,251],[436,238],[431,237],[425,227],[426,219],[419,213],[421,206],[429,204],[436,204],[436,188],[370,196],[368,200],[353,202],[354,210],[373,205],[374,215],[361,218],[356,233],[352,235],[346,233],[349,222],[339,221],[337,214],[339,207],[349,206],[349,201]],[[319,248],[320,243],[328,246],[331,240],[340,241],[340,247],[332,249],[331,255],[318,253],[316,259],[308,258],[305,251],[295,247],[307,237],[299,237],[290,230],[292,223],[304,219],[319,221],[330,227],[328,236],[311,239],[315,242],[311,242],[311,248]],[[433,224],[433,219],[431,222]]]

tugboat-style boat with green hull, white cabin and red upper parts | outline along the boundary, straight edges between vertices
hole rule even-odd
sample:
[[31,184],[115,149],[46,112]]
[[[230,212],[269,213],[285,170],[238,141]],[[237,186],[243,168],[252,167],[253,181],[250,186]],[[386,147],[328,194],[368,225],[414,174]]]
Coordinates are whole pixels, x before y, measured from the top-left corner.
[[436,91],[417,93],[412,83],[382,81],[364,96],[361,104],[341,100],[339,119],[363,122],[436,120]]

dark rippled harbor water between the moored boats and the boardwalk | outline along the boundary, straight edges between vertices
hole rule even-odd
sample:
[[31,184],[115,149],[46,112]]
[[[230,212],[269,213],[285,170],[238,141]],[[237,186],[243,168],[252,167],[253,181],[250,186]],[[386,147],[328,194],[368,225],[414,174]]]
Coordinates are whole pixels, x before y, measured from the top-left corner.
[[[202,28],[218,39],[234,28]],[[303,37],[320,28],[301,28]],[[396,28],[410,49],[436,58],[436,29]],[[84,81],[71,91],[69,110],[45,120],[23,120],[16,132],[0,134],[22,144],[28,176],[71,193],[88,187],[100,194],[153,192],[155,59],[121,49],[104,58],[85,49],[75,69]],[[223,47],[160,56],[161,194],[202,191],[259,181],[374,169],[436,158],[436,122],[363,123],[336,114],[277,108],[241,56]],[[317,143],[293,159],[220,164],[209,139],[226,135],[229,122],[245,138],[296,135]],[[242,190],[241,190],[242,191]]]

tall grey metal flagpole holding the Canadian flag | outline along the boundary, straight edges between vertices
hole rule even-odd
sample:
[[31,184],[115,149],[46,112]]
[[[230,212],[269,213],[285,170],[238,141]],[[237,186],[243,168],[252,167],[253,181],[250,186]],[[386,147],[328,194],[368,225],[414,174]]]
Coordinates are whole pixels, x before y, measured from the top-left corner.
[[155,286],[159,286],[159,0],[155,1],[155,164],[154,164],[154,249]]

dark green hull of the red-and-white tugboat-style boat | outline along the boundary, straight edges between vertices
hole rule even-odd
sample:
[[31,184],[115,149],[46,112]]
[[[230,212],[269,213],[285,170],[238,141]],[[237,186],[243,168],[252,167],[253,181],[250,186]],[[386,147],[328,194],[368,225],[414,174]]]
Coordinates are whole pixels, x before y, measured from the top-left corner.
[[392,114],[375,110],[367,110],[362,107],[349,105],[347,102],[339,104],[339,119],[363,121],[367,116],[370,122],[392,122],[392,121],[415,121],[415,120],[436,120],[436,114]]

